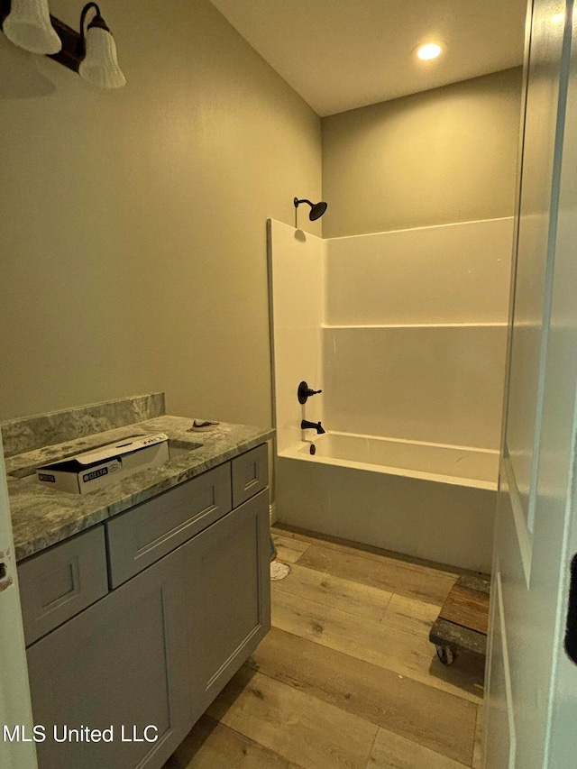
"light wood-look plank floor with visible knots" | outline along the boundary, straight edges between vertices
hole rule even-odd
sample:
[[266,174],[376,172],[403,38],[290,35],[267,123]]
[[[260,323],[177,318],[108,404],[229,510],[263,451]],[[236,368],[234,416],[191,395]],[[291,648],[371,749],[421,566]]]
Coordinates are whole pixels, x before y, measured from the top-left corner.
[[457,574],[275,528],[272,629],[166,769],[481,767],[483,671],[428,631]]

